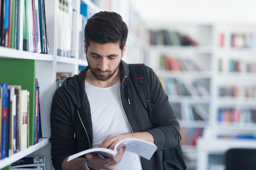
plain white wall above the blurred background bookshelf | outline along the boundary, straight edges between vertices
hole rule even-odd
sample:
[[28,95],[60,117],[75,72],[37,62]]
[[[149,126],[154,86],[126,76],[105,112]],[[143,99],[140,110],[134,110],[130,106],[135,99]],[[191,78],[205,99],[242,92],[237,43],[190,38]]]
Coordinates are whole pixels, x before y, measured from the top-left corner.
[[132,0],[145,22],[256,22],[256,0]]

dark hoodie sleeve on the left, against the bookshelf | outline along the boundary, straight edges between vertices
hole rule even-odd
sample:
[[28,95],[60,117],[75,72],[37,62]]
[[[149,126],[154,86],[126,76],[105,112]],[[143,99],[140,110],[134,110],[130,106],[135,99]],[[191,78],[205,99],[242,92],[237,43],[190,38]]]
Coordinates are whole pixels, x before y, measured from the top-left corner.
[[65,90],[56,90],[51,107],[52,163],[56,170],[61,170],[63,160],[75,153],[75,139],[72,124],[72,101]]

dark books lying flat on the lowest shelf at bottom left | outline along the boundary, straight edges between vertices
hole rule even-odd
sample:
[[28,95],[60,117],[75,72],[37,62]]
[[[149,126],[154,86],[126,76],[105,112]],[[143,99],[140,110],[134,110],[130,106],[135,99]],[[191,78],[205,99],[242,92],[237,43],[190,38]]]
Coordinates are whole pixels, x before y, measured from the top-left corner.
[[11,163],[11,170],[45,170],[45,156],[27,156]]

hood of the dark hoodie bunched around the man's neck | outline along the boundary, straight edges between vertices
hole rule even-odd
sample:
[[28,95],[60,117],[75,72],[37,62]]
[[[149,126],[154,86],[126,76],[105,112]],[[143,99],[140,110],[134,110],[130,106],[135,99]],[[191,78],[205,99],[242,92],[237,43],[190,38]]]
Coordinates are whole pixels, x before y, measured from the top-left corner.
[[[123,85],[126,82],[126,77],[128,77],[130,73],[129,65],[121,60],[119,68],[120,81],[121,85]],[[88,66],[81,70],[80,74],[76,74],[73,77],[68,77],[62,83],[63,88],[69,94],[70,98],[72,98],[78,108],[83,106],[85,99],[87,98],[85,93],[85,74],[87,70],[89,70]]]

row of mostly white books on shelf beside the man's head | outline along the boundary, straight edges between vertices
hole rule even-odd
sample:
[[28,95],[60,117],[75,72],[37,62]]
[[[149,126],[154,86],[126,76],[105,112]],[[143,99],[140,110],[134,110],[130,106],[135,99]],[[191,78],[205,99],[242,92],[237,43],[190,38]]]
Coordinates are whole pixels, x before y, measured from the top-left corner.
[[[86,60],[83,40],[84,28],[88,18],[88,6],[86,4],[81,4],[81,13],[77,13],[71,4],[71,0],[59,1],[56,54],[58,56],[72,58],[79,55],[79,59]],[[77,41],[77,38],[79,39],[79,42]]]

